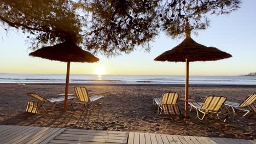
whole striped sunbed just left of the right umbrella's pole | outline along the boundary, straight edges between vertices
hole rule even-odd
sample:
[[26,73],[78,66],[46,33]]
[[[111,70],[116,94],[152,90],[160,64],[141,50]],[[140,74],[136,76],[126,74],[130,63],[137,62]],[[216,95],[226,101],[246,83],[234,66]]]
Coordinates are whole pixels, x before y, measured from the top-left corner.
[[181,115],[178,104],[176,104],[179,97],[178,93],[167,92],[162,94],[162,98],[154,98],[153,104],[158,106],[158,115],[165,114]]

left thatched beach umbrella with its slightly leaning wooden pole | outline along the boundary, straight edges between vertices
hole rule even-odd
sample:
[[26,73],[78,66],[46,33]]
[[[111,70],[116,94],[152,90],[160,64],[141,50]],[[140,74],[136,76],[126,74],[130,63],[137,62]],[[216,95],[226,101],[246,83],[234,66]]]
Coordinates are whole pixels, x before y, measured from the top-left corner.
[[73,41],[66,41],[54,46],[47,46],[30,53],[30,56],[41,57],[53,61],[67,62],[66,88],[65,88],[65,104],[64,110],[67,110],[67,94],[69,83],[70,62],[88,62],[94,63],[99,61],[97,57],[90,52],[82,50]]

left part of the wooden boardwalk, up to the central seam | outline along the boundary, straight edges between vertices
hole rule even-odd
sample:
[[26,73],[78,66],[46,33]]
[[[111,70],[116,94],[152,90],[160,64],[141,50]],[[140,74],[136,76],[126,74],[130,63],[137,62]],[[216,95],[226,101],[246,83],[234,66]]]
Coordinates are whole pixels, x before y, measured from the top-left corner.
[[125,131],[0,125],[0,143],[127,143]]

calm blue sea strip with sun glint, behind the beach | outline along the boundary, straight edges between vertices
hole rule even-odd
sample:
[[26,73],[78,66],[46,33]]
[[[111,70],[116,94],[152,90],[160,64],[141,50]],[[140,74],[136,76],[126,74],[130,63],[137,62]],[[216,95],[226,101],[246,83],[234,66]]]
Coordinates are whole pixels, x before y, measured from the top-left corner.
[[[70,75],[69,83],[184,84],[173,75]],[[65,74],[0,74],[0,83],[65,83]],[[256,85],[256,76],[189,76],[190,84]]]

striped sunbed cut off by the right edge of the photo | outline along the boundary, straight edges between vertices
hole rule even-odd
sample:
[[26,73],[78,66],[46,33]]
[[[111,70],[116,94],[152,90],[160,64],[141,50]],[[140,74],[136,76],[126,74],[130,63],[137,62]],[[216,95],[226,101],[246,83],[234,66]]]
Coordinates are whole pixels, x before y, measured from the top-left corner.
[[234,113],[235,113],[235,109],[246,111],[245,115],[243,115],[244,117],[247,115],[247,113],[250,112],[250,110],[253,111],[254,114],[256,115],[255,100],[256,100],[256,94],[254,93],[252,95],[249,95],[241,104],[233,103],[231,101],[226,101],[224,105],[231,107]]

